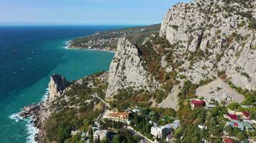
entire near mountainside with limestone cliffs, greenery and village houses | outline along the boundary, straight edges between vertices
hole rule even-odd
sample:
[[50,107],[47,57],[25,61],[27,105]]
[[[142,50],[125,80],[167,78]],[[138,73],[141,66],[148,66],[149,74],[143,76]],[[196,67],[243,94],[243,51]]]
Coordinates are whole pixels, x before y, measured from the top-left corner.
[[143,41],[118,38],[109,71],[52,75],[24,115],[38,142],[256,142],[255,19],[253,0],[175,4]]

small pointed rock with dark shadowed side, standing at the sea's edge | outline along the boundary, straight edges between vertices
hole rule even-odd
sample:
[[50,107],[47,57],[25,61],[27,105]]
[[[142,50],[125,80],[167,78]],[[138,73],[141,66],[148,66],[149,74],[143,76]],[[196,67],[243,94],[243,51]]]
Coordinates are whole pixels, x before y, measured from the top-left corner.
[[68,84],[69,82],[65,77],[60,74],[53,74],[50,76],[50,82],[48,84],[50,90],[50,102],[54,101],[56,97],[60,97],[60,95],[63,94],[64,89],[68,87]]

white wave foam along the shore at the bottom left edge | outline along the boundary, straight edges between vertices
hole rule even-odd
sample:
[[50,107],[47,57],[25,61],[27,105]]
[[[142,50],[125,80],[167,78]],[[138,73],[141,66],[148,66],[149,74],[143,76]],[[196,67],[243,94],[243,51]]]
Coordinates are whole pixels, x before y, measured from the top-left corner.
[[37,134],[39,132],[39,130],[31,122],[32,121],[31,117],[26,119],[26,120],[27,120],[27,124],[26,124],[27,134],[29,135],[27,137],[27,141],[26,142],[27,143],[36,143],[36,141],[35,141],[35,134]]

